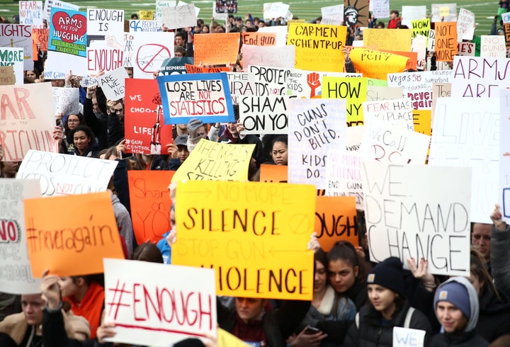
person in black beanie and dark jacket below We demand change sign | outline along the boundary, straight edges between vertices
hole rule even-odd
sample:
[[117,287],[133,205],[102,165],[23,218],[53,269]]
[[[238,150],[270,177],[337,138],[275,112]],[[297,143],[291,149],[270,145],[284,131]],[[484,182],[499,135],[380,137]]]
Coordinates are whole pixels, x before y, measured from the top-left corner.
[[424,346],[431,334],[429,319],[407,302],[404,275],[399,258],[378,263],[367,276],[368,305],[356,314],[344,346],[392,346],[393,328],[419,329],[426,332]]

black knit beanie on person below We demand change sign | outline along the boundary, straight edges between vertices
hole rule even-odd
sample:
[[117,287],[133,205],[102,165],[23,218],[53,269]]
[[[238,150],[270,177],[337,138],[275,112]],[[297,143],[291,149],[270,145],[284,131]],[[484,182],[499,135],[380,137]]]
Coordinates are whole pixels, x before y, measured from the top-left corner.
[[368,273],[367,284],[380,285],[404,296],[402,261],[395,256],[381,261]]

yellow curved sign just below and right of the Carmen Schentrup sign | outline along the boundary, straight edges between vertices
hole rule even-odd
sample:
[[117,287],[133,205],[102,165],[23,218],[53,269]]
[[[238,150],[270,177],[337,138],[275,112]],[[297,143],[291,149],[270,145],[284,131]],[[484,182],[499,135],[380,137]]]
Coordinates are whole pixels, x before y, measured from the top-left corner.
[[356,69],[363,73],[364,77],[384,81],[387,79],[387,74],[404,72],[408,59],[408,57],[402,55],[378,50],[367,50],[365,48],[351,50],[351,60]]

